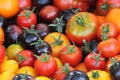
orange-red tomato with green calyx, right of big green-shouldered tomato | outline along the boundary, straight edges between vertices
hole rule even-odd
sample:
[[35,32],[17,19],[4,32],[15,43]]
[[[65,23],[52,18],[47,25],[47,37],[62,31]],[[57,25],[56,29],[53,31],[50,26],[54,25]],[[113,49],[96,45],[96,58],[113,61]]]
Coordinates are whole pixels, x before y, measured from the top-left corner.
[[97,29],[97,36],[99,40],[116,38],[118,34],[119,34],[118,27],[111,22],[103,23]]

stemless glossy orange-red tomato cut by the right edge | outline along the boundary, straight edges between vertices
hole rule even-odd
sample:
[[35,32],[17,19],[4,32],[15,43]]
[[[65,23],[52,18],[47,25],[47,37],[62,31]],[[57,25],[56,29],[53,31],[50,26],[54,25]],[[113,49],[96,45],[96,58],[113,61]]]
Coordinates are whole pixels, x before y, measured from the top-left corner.
[[120,52],[120,44],[116,39],[110,38],[98,43],[97,49],[99,52],[102,52],[105,58],[110,58],[116,56]]

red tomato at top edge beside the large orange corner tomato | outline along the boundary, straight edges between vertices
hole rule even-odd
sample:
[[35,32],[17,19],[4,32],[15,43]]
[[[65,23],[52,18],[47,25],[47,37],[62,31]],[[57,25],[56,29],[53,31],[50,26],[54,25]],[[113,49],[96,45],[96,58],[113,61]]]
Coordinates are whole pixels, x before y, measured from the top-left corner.
[[31,7],[31,0],[19,0],[19,11],[22,11],[24,8],[30,9]]

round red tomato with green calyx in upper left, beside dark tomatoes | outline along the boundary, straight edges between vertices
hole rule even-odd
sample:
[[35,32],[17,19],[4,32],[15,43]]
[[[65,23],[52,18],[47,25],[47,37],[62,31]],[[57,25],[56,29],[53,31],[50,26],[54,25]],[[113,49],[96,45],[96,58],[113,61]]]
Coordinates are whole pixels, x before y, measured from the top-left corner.
[[37,17],[33,11],[23,10],[17,16],[17,23],[21,27],[30,28],[31,25],[36,25]]

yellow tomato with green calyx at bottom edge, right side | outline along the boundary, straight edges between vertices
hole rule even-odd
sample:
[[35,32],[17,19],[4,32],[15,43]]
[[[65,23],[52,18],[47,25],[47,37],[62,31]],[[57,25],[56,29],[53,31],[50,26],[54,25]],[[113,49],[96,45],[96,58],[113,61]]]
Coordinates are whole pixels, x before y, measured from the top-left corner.
[[103,70],[91,70],[87,75],[89,80],[112,80],[110,74]]

